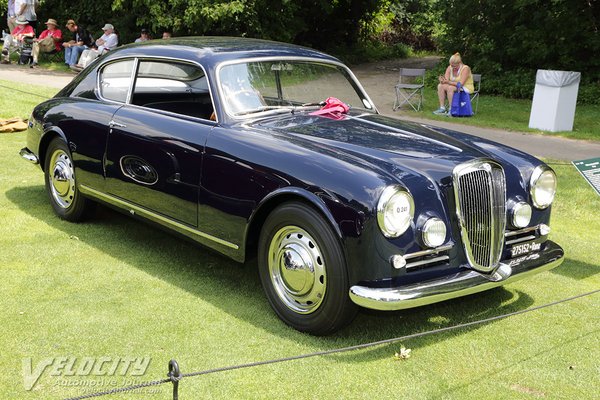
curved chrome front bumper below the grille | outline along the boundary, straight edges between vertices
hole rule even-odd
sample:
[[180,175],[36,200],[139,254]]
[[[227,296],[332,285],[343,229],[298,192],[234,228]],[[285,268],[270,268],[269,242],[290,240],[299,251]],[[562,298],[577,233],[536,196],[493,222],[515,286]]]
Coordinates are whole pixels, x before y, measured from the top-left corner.
[[402,310],[482,292],[558,267],[563,249],[552,241],[539,253],[505,261],[493,274],[466,270],[426,282],[401,287],[352,286],[350,298],[359,306],[375,310]]

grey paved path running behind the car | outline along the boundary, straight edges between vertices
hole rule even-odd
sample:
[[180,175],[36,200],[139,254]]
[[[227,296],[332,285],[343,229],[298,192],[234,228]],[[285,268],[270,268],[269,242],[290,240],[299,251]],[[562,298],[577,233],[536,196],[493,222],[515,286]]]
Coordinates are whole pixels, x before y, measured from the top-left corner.
[[[358,79],[377,105],[379,112],[395,118],[403,118],[418,123],[440,126],[466,132],[471,135],[485,137],[538,157],[555,160],[582,160],[600,157],[600,143],[583,140],[564,139],[521,132],[509,132],[500,129],[480,128],[453,124],[451,121],[428,120],[402,115],[401,111],[393,112],[394,84],[398,80],[400,67],[431,68],[437,62],[436,57],[425,57],[415,61],[388,60],[384,62],[361,64],[352,68]],[[415,65],[418,62],[419,65]],[[19,65],[0,65],[0,80],[32,83],[36,85],[62,88],[73,79],[75,74],[56,72],[44,69],[30,69]],[[1,91],[0,91],[1,93]],[[428,112],[428,110],[424,111]]]

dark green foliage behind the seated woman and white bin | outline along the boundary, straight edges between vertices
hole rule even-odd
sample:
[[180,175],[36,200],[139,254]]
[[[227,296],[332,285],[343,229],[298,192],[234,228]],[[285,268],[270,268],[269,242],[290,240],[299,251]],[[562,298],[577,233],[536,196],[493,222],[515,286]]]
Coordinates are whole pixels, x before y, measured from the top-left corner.
[[459,51],[487,87],[530,97],[537,69],[579,71],[600,80],[600,4],[590,0],[448,0],[439,2],[439,47]]

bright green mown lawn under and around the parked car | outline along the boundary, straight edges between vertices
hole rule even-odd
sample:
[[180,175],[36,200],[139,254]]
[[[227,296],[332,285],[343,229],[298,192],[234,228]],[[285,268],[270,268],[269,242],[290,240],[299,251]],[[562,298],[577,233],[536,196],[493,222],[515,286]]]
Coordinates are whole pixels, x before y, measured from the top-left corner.
[[[480,107],[486,101],[482,98]],[[2,96],[0,117],[15,112],[27,117],[37,102],[24,95],[23,102],[8,104]],[[312,337],[288,328],[271,311],[255,262],[236,264],[106,208],[87,223],[58,219],[41,171],[18,155],[24,144],[24,133],[0,135],[2,399],[64,398],[163,379],[171,358],[186,373],[330,350],[523,310],[600,287],[600,197],[573,167],[556,163],[559,192],[551,237],[565,248],[563,265],[445,303],[363,312],[334,336]],[[186,378],[180,395],[597,398],[599,304],[596,294],[401,344]],[[412,349],[404,361],[394,357],[402,346]],[[53,375],[48,368],[26,391],[23,360],[31,359],[35,368],[48,357],[77,362],[150,357],[151,362],[142,376]],[[141,393],[110,398],[171,398],[171,385]]]

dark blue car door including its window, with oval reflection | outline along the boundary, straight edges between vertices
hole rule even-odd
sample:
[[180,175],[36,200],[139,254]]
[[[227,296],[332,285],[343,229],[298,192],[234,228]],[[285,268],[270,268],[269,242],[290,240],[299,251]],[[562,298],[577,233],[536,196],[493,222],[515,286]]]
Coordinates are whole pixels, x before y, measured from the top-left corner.
[[129,101],[110,123],[106,191],[196,227],[202,153],[215,125],[205,73],[152,59],[137,60],[135,70]]

